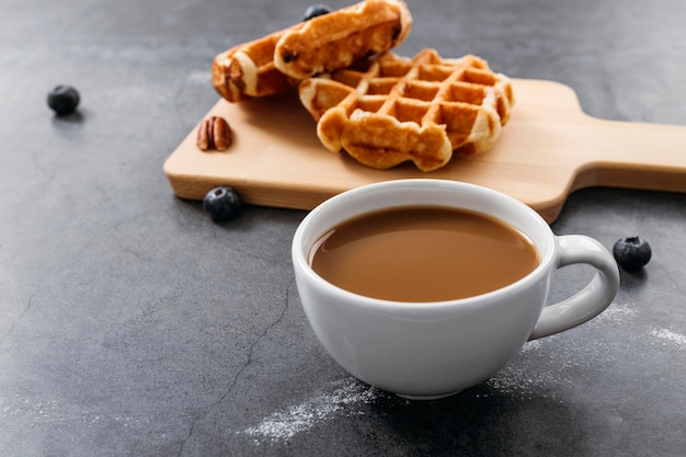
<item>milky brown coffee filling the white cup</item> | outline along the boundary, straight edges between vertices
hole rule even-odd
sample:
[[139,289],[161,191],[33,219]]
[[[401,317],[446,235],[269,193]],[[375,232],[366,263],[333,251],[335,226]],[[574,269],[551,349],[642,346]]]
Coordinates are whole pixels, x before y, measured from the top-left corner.
[[499,289],[536,269],[517,229],[478,213],[408,206],[369,213],[325,233],[312,269],[350,292],[396,301],[442,301]]

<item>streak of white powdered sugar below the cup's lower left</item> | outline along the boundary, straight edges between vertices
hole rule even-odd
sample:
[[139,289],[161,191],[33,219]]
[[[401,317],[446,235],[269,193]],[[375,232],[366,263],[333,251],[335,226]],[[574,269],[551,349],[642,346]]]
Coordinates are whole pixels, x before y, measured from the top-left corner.
[[342,414],[363,414],[363,411],[353,407],[374,403],[380,393],[378,389],[357,382],[354,378],[336,381],[333,386],[333,392],[320,393],[285,411],[274,412],[241,433],[252,436],[258,443],[260,438],[266,438],[270,443],[287,442],[323,421]]

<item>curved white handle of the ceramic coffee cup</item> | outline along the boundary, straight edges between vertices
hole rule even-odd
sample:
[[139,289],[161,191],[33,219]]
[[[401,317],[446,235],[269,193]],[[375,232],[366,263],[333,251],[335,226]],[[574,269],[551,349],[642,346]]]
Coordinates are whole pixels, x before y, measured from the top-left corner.
[[591,283],[579,293],[544,307],[529,340],[549,336],[595,318],[613,302],[619,288],[617,262],[598,241],[583,235],[565,235],[556,237],[556,270],[585,263],[597,272]]

